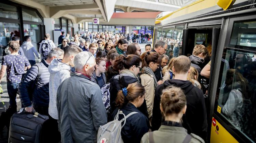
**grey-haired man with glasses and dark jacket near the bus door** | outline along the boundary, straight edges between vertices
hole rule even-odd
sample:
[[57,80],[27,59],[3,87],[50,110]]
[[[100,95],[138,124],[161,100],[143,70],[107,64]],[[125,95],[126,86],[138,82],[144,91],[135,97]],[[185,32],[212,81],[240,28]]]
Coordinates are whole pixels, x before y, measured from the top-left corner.
[[[163,40],[158,40],[155,43],[155,48],[151,51],[151,52],[157,52],[159,55],[163,55],[166,53],[166,49],[167,49],[167,43]],[[157,83],[162,84],[162,80],[163,80],[163,76],[162,76],[162,68],[158,68],[154,74],[155,74],[155,78],[157,78]]]

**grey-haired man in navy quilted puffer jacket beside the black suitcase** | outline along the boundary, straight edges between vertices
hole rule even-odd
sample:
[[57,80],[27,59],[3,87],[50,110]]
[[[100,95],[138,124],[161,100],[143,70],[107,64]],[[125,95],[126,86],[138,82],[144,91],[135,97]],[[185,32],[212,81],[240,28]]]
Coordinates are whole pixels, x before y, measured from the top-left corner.
[[[40,63],[34,64],[21,80],[18,90],[21,103],[23,107],[26,107],[26,112],[32,112],[34,108],[39,114],[49,116],[50,73],[48,71],[48,66],[53,59],[63,59],[63,55],[64,51],[62,49],[53,48],[49,52],[47,59],[42,59]],[[46,129],[48,133],[44,140],[45,142],[58,142],[58,128],[56,127],[55,130],[52,128],[52,124],[54,124],[54,120],[52,118],[49,118],[49,124],[49,129]]]

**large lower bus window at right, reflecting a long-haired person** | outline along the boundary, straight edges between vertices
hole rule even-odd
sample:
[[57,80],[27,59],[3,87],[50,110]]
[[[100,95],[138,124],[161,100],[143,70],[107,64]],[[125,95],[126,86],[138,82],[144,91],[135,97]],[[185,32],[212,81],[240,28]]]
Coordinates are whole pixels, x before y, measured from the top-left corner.
[[231,129],[256,142],[256,61],[251,58],[254,54],[224,49],[215,109],[231,124]]

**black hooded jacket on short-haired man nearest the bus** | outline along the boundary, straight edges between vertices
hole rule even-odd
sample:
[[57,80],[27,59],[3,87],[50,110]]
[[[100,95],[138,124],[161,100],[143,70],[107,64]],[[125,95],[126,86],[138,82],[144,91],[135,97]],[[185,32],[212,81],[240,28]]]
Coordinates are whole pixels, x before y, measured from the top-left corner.
[[168,86],[180,87],[186,96],[187,111],[182,117],[183,127],[188,130],[189,134],[196,134],[206,141],[207,118],[203,91],[193,86],[188,80],[171,79],[157,86],[154,98],[152,130],[158,130],[161,126],[162,115],[160,110],[160,96],[162,95],[163,89]]

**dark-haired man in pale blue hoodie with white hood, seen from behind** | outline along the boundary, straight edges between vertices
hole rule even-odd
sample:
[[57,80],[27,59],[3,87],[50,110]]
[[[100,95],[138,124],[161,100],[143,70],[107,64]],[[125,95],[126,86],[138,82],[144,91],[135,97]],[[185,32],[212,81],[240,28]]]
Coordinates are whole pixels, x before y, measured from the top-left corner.
[[27,57],[30,65],[32,66],[35,64],[35,55],[37,56],[38,59],[39,59],[39,55],[37,53],[37,49],[35,49],[34,45],[31,43],[31,37],[25,36],[24,40],[25,42],[23,42],[20,47],[23,49],[24,55]]

